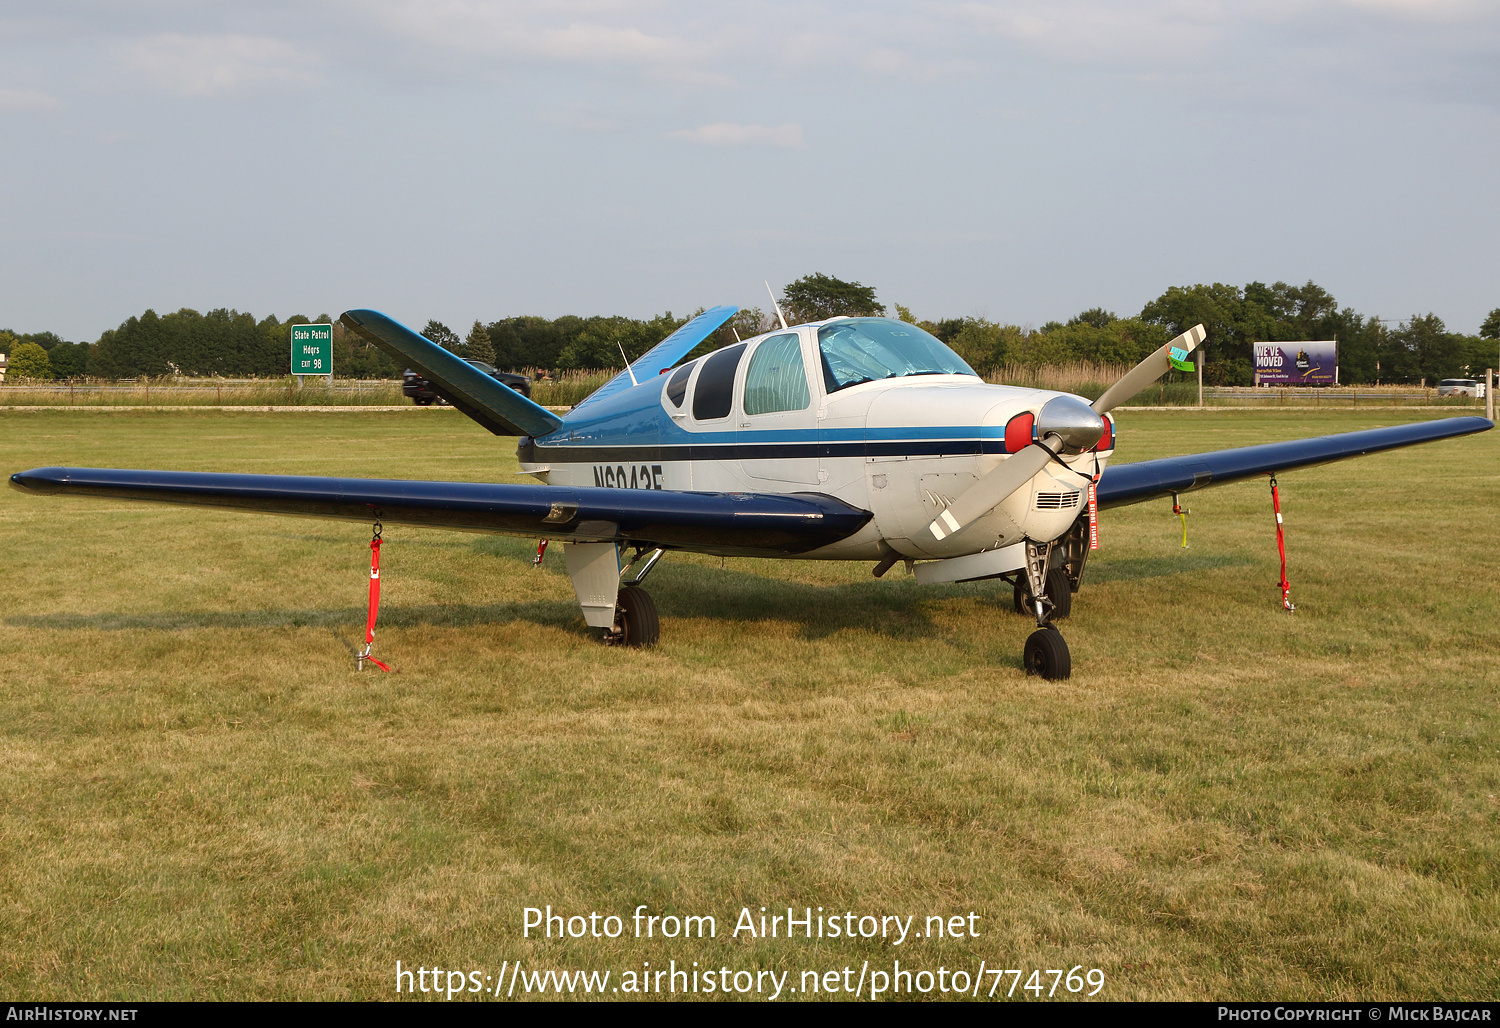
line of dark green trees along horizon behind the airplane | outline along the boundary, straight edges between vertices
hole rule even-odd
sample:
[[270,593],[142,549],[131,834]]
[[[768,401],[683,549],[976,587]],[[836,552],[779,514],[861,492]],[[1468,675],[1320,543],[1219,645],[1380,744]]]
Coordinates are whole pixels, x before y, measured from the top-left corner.
[[[888,314],[874,287],[820,273],[783,287],[778,306],[789,324]],[[920,320],[900,303],[891,312],[942,339],[980,374],[1005,365],[1136,363],[1168,338],[1203,323],[1204,381],[1218,386],[1251,384],[1252,342],[1338,339],[1341,381],[1368,384],[1482,375],[1485,368],[1497,365],[1500,341],[1500,308],[1490,312],[1478,336],[1468,336],[1449,332],[1436,314],[1413,314],[1389,324],[1340,308],[1314,282],[1174,285],[1138,314],[1120,317],[1090,308],[1041,327],[982,317]],[[700,350],[766,332],[780,324],[777,317],[759,308],[744,309]],[[309,321],[314,320],[303,315],[256,320],[224,308],[207,314],[186,308],[165,315],[146,311],[94,342],[68,342],[51,332],[0,330],[0,353],[10,354],[12,378],[274,378],[288,369],[291,326]],[[316,321],[332,318],[321,315]],[[422,332],[462,357],[498,368],[570,371],[621,368],[622,354],[634,360],[686,321],[670,311],[652,318],[522,315],[476,320],[464,336],[436,320],[428,321]],[[402,371],[384,351],[346,333],[339,323],[333,327],[333,368],[350,378],[394,378]]]

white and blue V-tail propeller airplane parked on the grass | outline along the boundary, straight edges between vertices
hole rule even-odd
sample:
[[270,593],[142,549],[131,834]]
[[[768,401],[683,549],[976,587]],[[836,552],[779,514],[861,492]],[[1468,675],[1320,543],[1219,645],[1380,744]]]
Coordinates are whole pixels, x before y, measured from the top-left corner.
[[[375,311],[344,324],[430,380],[543,485],[38,468],[36,494],[154,500],[561,539],[584,620],[651,645],[642,582],[668,551],[906,561],[918,582],[1002,579],[1035,617],[1023,663],[1066,678],[1072,605],[1098,507],[1480,432],[1450,417],[1107,467],[1110,410],[1203,342],[1203,326],[1092,404],[984,383],[952,350],[888,318],[782,327],[680,362],[735,308],[706,311],[564,417]],[[632,575],[632,569],[636,569]]]

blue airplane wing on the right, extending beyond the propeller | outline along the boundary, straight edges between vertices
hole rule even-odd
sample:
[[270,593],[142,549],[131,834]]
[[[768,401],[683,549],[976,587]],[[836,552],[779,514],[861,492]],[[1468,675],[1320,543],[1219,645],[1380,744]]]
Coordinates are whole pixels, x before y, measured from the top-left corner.
[[1491,428],[1494,428],[1494,422],[1484,417],[1443,417],[1436,422],[1317,435],[1290,443],[1266,443],[1212,453],[1168,456],[1160,461],[1116,464],[1100,476],[1098,500],[1101,507],[1124,507],[1142,500],[1170,497],[1173,492],[1188,492],[1262,474],[1330,464],[1401,446],[1485,432]]

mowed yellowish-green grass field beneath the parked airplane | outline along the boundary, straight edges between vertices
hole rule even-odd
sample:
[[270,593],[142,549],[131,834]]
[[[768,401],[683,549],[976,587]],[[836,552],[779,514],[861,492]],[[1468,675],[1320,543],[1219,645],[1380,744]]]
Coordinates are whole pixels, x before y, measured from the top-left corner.
[[[1124,413],[1119,459],[1428,416]],[[398,413],[10,413],[0,455],[530,480],[508,440]],[[1294,615],[1264,482],[1188,497],[1185,551],[1167,504],[1106,512],[1065,683],[1020,672],[993,584],[669,555],[662,644],[620,651],[561,552],[411,528],[382,552],[399,674],[356,674],[366,527],[6,489],[0,992],[982,959],[1102,968],[1114,999],[1492,998],[1497,468],[1485,434],[1282,476]],[[522,939],[548,903],[718,938]],[[730,938],[788,905],[981,935]]]

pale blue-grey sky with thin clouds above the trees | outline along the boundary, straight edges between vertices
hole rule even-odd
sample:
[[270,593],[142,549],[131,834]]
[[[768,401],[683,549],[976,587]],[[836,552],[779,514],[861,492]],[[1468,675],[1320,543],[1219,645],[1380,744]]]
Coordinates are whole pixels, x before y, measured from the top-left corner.
[[1494,0],[0,0],[0,326],[1500,308]]

